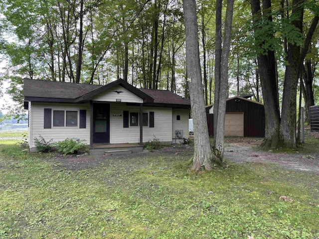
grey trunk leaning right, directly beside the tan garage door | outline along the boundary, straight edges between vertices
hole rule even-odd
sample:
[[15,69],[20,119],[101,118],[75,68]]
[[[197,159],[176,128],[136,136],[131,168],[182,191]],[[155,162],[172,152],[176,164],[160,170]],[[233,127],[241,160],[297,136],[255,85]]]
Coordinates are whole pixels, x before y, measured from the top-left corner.
[[228,92],[228,56],[229,56],[229,48],[230,48],[230,41],[231,41],[233,10],[234,10],[234,0],[227,0],[223,47],[222,47],[222,56],[221,56],[217,132],[216,132],[216,142],[215,142],[215,149],[217,150],[217,155],[221,159],[224,157],[224,130],[225,130],[226,99],[227,99],[227,92]]

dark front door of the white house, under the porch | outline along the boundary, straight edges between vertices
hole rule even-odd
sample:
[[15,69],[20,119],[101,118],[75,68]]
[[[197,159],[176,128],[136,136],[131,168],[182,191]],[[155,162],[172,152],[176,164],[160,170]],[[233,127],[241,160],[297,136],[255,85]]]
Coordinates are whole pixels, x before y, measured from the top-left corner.
[[110,104],[93,104],[93,143],[110,142]]

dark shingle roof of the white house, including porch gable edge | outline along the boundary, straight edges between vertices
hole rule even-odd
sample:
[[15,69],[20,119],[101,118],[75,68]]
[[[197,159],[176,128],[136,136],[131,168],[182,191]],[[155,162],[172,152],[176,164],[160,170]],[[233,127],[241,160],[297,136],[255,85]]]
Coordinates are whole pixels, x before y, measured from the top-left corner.
[[146,99],[149,104],[184,105],[190,106],[190,101],[163,90],[138,89],[123,80],[111,82],[105,86],[76,84],[67,82],[53,82],[43,80],[24,79],[23,95],[25,101],[37,102],[84,102],[92,96],[110,89],[115,85],[121,85],[132,93]]

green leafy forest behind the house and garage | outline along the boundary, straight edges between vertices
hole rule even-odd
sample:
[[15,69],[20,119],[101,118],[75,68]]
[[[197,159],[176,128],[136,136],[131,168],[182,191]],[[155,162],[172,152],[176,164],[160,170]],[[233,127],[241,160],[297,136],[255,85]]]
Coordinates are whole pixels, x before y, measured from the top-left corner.
[[[264,101],[257,58],[271,49],[281,101],[288,44],[303,46],[319,14],[316,0],[298,4],[304,8],[302,32],[293,24],[293,1],[272,1],[272,11],[263,13],[272,16],[271,24],[265,19],[253,21],[249,1],[234,2],[229,96],[254,94],[254,100]],[[224,19],[226,4],[222,7]],[[139,88],[189,97],[178,0],[4,0],[0,11],[0,54],[6,62],[0,82],[11,82],[8,93],[14,101],[23,101],[22,78],[100,85],[122,78]],[[197,14],[203,91],[209,105],[214,99],[215,1],[198,0]],[[313,102],[319,99],[318,39],[316,27],[304,61],[302,91],[305,99],[312,91]],[[304,102],[309,105],[309,100]]]

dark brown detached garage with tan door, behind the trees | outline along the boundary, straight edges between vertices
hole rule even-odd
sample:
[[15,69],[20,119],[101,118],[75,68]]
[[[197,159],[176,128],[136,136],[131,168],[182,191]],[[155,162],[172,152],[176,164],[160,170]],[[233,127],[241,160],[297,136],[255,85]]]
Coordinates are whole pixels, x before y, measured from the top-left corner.
[[[235,96],[226,100],[225,136],[265,137],[264,104]],[[209,136],[214,135],[214,106],[206,106]]]

